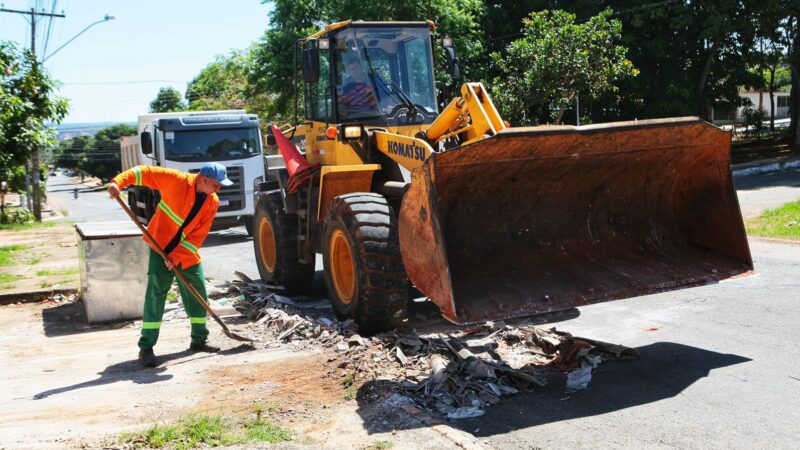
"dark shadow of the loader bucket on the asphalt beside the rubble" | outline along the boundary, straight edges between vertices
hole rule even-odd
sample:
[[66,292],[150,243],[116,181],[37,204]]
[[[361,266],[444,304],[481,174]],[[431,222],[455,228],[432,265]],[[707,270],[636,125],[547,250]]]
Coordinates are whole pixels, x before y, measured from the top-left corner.
[[[451,422],[477,437],[494,436],[552,422],[591,417],[680,395],[714,369],[751,361],[738,355],[717,353],[673,342],[657,342],[637,348],[641,359],[612,361],[599,366],[589,389],[565,394],[564,373],[551,373],[547,386],[504,397],[486,408],[484,416]],[[374,414],[377,391],[400,392],[396,382],[373,381],[359,389],[358,412],[365,422]],[[409,426],[408,424],[412,425]],[[419,421],[403,421],[400,427],[383,423],[371,433],[420,428]],[[472,430],[479,430],[473,433]]]

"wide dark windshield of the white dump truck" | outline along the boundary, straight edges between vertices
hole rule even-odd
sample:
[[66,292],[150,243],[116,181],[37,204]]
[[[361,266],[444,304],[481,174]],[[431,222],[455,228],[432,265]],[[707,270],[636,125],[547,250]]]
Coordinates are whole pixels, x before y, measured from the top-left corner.
[[166,158],[222,161],[261,154],[258,128],[164,131]]

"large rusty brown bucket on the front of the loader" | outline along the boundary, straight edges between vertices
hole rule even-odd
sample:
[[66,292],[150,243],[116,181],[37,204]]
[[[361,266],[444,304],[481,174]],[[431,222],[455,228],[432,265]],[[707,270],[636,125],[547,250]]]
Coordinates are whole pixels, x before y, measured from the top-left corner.
[[730,134],[698,118],[510,128],[435,153],[399,219],[410,280],[456,323],[753,269]]

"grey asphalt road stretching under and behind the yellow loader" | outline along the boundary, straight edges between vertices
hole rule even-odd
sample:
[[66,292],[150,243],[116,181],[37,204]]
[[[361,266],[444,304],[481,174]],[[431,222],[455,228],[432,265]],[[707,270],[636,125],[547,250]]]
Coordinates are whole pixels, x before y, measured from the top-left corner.
[[[120,220],[105,193],[74,200],[58,179],[50,186],[71,220]],[[755,215],[800,199],[800,171],[736,186],[742,211]],[[753,276],[581,307],[555,324],[634,347],[640,360],[602,365],[586,391],[566,393],[565,377],[553,375],[547,387],[454,426],[504,449],[797,448],[800,245],[751,239],[750,248]],[[243,229],[212,233],[201,252],[209,277],[258,278]]]

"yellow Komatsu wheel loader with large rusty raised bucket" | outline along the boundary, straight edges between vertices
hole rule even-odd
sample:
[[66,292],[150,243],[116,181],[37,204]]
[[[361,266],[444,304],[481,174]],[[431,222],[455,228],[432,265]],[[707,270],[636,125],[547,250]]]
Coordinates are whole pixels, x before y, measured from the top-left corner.
[[336,313],[371,333],[411,292],[471,323],[753,269],[730,133],[696,117],[511,128],[470,82],[439,111],[433,27],[346,21],[298,43],[305,117],[271,128],[281,157],[256,194],[265,282],[303,293],[321,254]]

